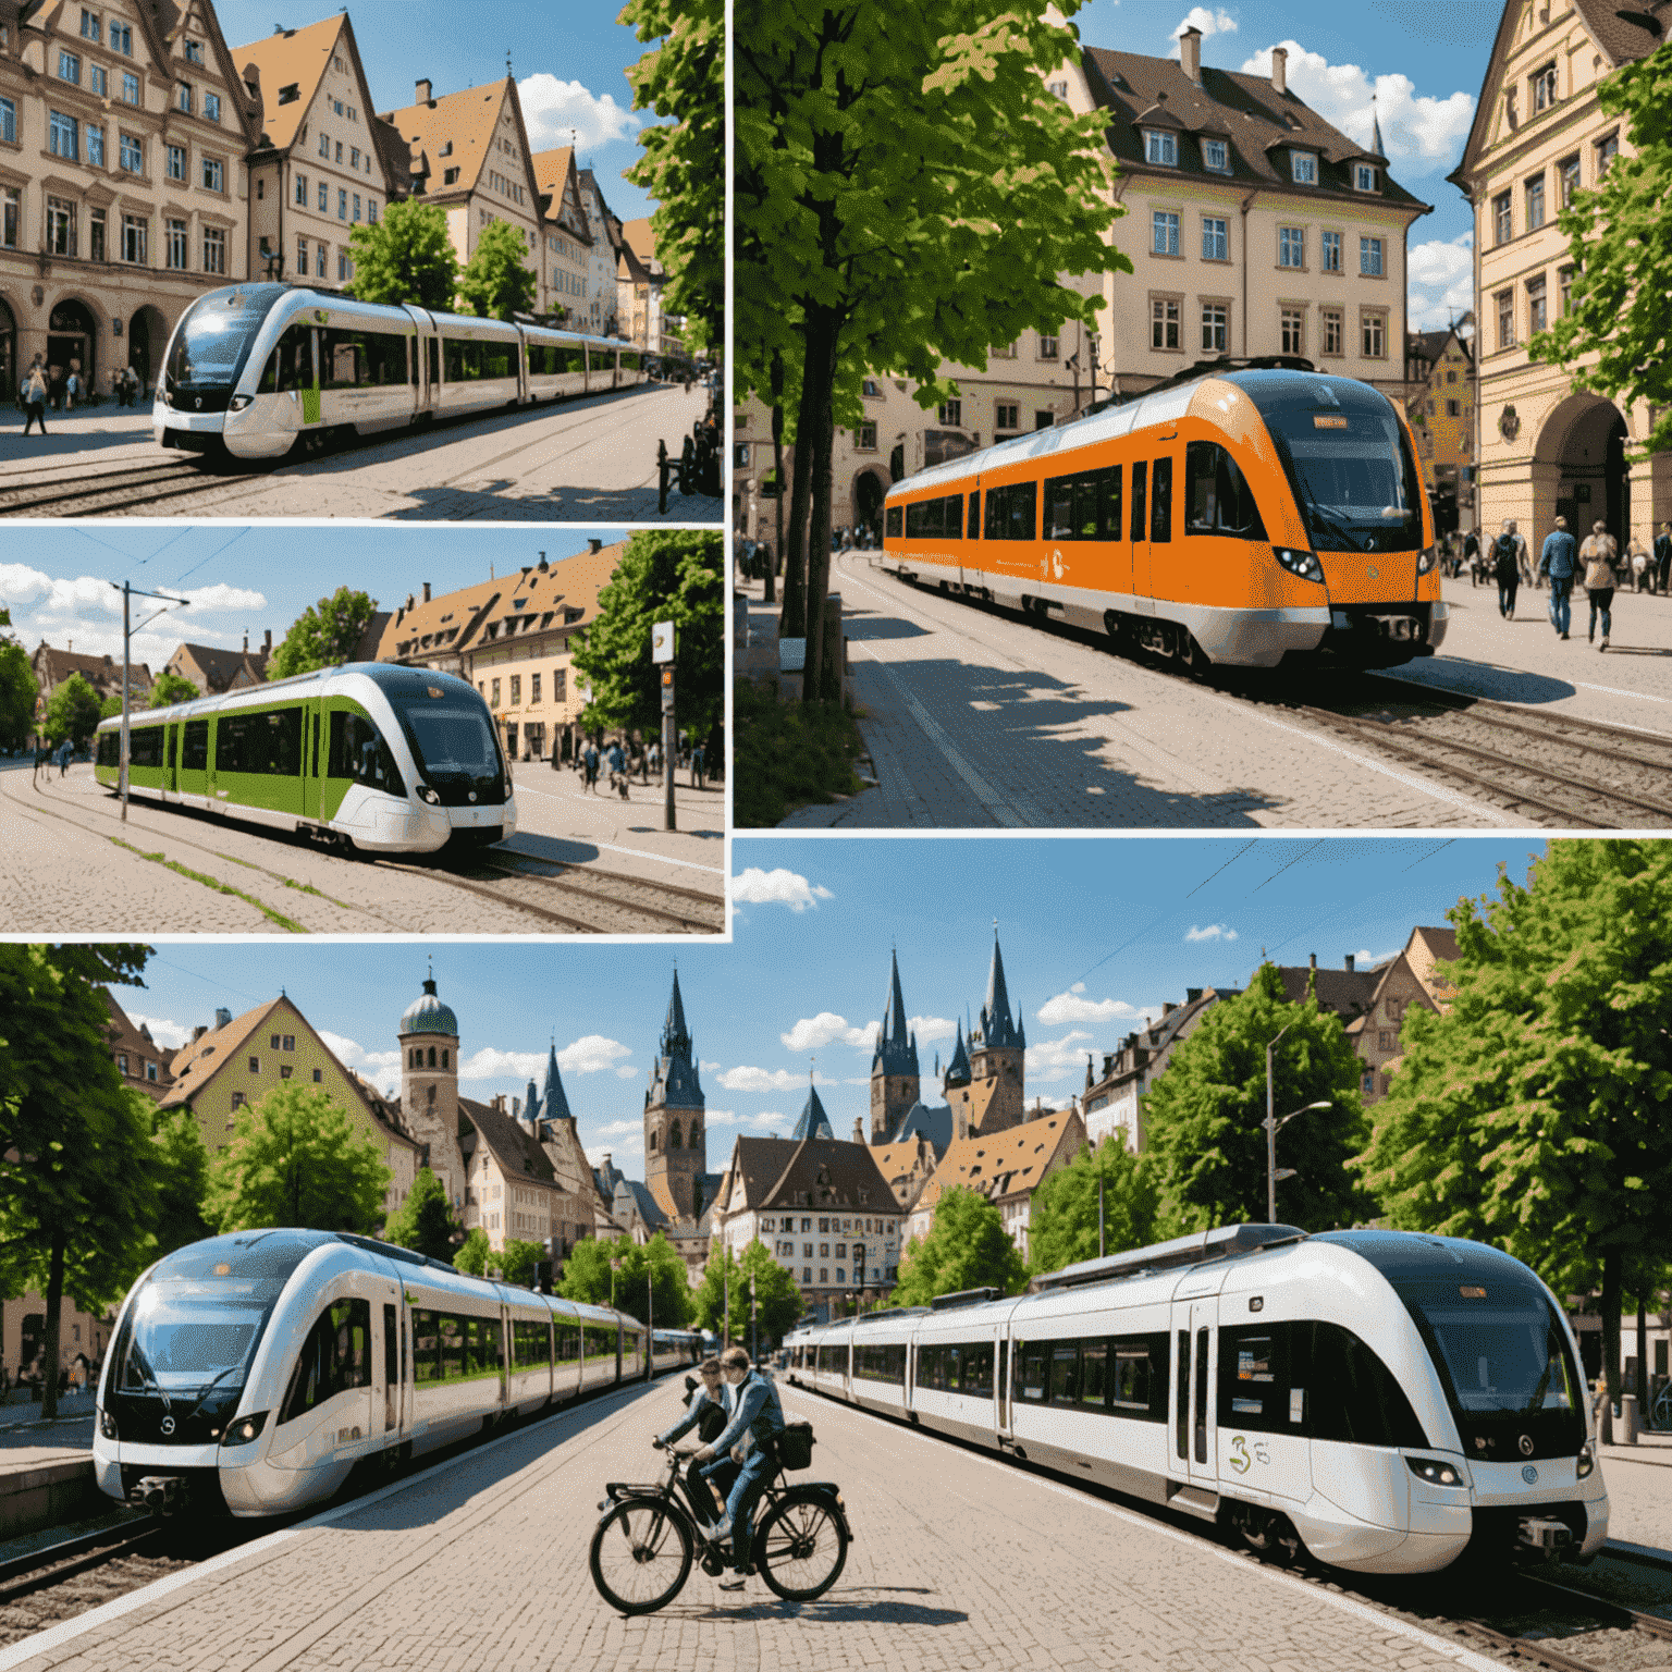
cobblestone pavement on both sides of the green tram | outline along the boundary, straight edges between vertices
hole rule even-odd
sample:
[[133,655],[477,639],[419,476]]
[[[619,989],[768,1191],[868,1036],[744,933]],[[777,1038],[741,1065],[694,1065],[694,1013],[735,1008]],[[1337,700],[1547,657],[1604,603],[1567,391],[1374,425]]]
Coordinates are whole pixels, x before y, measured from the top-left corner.
[[[660,799],[577,804],[532,793],[517,848],[719,896],[721,813],[721,793],[681,789],[675,818],[686,828],[665,833]],[[0,771],[0,933],[264,935],[291,925],[326,935],[545,931],[542,920],[441,876],[341,858],[254,824],[130,801],[124,826],[85,762],[37,782],[22,762]]]

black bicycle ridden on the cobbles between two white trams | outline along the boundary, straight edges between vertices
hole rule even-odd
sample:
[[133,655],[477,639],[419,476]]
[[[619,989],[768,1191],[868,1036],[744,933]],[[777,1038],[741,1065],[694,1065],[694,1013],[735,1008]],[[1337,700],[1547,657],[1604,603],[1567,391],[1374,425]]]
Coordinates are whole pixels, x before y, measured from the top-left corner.
[[[777,1471],[756,1508],[751,1572],[784,1602],[813,1602],[841,1577],[853,1533],[833,1481],[791,1486],[784,1478],[786,1468],[813,1465],[811,1426],[794,1423],[791,1430],[777,1436]],[[667,1450],[665,1480],[642,1486],[610,1481],[599,1503],[604,1515],[592,1535],[592,1583],[620,1613],[665,1608],[691,1577],[694,1553],[704,1573],[719,1575],[727,1565],[727,1540],[716,1543],[702,1535],[702,1513],[679,1473],[696,1451]]]

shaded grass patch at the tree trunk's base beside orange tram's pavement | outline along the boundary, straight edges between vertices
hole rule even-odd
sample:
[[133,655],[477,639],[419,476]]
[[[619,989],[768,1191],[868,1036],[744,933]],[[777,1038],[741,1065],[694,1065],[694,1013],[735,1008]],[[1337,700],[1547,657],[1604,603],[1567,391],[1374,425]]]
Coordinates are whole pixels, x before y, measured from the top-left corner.
[[739,679],[732,687],[739,829],[769,829],[786,813],[831,803],[864,786],[853,762],[864,752],[859,727],[836,702],[779,702],[772,686]]

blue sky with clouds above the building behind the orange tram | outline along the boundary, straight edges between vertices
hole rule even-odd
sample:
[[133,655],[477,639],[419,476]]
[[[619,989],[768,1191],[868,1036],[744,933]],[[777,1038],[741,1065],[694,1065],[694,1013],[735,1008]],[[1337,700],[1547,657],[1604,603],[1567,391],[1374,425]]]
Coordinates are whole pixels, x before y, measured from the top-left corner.
[[1289,87],[1358,140],[1369,139],[1374,94],[1393,177],[1435,206],[1409,232],[1411,329],[1426,329],[1473,306],[1470,207],[1446,176],[1463,155],[1501,12],[1501,0],[1090,0],[1073,23],[1087,45],[1162,57],[1189,20],[1204,64],[1256,75],[1271,74],[1272,47],[1287,47]]

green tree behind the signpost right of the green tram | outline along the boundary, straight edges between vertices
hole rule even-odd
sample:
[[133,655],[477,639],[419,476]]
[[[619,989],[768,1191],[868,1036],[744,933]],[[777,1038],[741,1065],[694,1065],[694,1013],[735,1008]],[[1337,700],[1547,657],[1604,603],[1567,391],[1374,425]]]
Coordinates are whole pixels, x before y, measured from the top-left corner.
[[575,670],[590,689],[587,726],[650,731],[662,724],[662,670],[650,629],[674,624],[679,724],[706,737],[724,709],[726,590],[721,537],[712,530],[647,530],[622,550],[599,594],[597,619],[575,635]]

